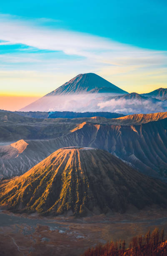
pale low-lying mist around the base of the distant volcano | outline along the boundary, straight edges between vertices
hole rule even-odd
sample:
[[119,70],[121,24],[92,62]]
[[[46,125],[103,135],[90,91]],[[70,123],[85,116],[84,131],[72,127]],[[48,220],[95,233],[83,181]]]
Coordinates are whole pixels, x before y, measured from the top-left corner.
[[113,113],[135,114],[135,113],[157,113],[167,111],[167,102],[153,98],[115,97],[119,94],[109,93],[87,93],[77,95],[55,95],[45,96],[33,102],[23,111],[74,111],[74,112],[96,112],[108,111]]

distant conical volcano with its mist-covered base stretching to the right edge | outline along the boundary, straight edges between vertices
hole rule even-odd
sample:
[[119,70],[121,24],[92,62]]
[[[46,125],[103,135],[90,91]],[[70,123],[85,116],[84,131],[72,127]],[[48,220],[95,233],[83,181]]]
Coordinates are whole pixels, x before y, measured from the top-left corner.
[[158,91],[158,95],[163,97],[157,99],[155,96],[146,97],[135,92],[128,93],[97,74],[79,74],[21,111],[105,111],[125,115],[157,113],[167,111],[165,93]]

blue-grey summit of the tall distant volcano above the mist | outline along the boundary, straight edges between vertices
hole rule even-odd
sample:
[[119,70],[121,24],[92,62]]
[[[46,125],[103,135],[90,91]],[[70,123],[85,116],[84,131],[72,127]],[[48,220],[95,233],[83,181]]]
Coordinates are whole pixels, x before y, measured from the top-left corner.
[[98,76],[94,73],[79,74],[72,78],[70,81],[66,82],[62,86],[58,87],[56,90],[48,93],[46,96],[53,95],[66,95],[74,93],[121,93],[125,94],[124,90],[115,86],[114,84],[108,82],[104,78]]

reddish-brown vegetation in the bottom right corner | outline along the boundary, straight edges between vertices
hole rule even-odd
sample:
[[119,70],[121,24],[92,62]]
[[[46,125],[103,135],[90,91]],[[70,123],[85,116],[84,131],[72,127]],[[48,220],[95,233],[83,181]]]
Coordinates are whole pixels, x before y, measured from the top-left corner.
[[105,245],[97,245],[89,248],[82,256],[165,256],[167,255],[167,241],[164,241],[164,230],[156,228],[152,234],[150,231],[145,236],[133,237],[129,248],[125,248],[126,242],[110,242]]

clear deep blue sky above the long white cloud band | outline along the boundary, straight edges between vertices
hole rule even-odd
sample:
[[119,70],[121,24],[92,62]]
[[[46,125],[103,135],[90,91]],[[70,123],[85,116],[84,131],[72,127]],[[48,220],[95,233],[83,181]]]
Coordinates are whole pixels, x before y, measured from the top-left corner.
[[8,0],[1,2],[0,12],[25,19],[46,18],[50,19],[46,26],[167,50],[166,0]]

